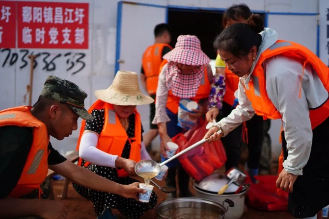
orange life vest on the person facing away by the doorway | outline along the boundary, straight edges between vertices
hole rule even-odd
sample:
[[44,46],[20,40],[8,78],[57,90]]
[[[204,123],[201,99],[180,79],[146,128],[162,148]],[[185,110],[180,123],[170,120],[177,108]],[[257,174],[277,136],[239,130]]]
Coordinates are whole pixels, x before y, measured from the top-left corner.
[[164,47],[170,47],[168,44],[157,43],[149,46],[142,58],[142,67],[146,77],[146,89],[149,95],[153,95],[157,91],[158,79],[159,79],[159,69],[162,58],[162,51]]

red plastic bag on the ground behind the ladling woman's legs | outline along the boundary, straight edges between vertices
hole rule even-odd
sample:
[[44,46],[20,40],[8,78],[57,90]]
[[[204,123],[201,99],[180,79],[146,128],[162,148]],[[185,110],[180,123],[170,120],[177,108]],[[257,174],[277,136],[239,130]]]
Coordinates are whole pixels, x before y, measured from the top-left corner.
[[246,205],[262,211],[287,211],[288,193],[285,196],[277,195],[277,175],[259,175],[255,179],[259,182],[251,183]]

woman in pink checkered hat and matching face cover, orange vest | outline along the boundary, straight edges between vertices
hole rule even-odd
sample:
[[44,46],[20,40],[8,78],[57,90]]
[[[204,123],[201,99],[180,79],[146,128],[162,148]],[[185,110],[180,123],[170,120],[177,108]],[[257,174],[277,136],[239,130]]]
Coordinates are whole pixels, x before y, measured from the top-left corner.
[[[166,160],[169,150],[167,142],[171,138],[186,131],[178,126],[178,107],[181,98],[190,98],[199,104],[193,109],[191,118],[198,119],[206,113],[210,84],[213,73],[209,65],[209,57],[201,50],[200,41],[196,36],[181,35],[177,39],[175,49],[164,55],[166,63],[159,75],[157,89],[156,113],[153,124],[158,124],[161,138],[161,159]],[[168,176],[166,184],[176,187],[176,170],[178,171],[178,187],[180,197],[190,197],[189,175],[180,165],[178,159],[166,164]],[[176,197],[168,194],[167,198]]]

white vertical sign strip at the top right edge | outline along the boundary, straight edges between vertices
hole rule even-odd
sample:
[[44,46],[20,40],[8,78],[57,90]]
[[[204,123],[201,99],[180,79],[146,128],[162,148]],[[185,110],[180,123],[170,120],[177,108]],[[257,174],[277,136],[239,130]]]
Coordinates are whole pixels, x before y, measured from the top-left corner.
[[320,0],[320,58],[329,67],[329,1]]

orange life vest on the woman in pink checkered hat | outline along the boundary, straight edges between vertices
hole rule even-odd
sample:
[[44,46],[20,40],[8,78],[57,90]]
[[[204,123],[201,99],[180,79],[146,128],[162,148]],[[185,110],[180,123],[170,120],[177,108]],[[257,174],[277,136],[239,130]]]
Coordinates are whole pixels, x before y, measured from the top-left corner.
[[[201,79],[201,84],[196,92],[195,97],[189,98],[195,102],[199,102],[200,99],[208,98],[210,93],[210,83],[208,79],[207,68],[204,68],[204,77]],[[180,97],[176,97],[172,94],[171,90],[168,91],[168,98],[166,107],[174,114],[178,113]]]

